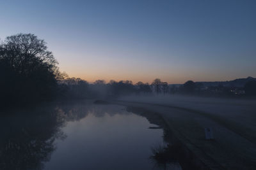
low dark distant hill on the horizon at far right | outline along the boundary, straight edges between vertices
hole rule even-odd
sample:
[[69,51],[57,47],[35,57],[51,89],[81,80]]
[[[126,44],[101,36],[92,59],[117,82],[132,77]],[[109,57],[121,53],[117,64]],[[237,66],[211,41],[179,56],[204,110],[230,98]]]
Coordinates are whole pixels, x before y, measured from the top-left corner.
[[197,81],[196,83],[202,83],[204,86],[218,86],[223,85],[224,87],[244,87],[244,85],[248,81],[255,80],[256,78],[248,77],[248,78],[237,78],[236,80],[231,81]]

